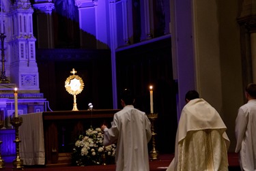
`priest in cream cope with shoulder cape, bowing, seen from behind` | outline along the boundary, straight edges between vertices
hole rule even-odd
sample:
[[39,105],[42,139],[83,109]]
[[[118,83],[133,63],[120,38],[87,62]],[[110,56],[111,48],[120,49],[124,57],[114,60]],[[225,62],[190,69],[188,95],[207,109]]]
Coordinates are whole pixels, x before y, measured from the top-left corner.
[[167,171],[227,171],[229,138],[218,112],[199,98],[197,91],[186,93],[175,140],[175,157]]

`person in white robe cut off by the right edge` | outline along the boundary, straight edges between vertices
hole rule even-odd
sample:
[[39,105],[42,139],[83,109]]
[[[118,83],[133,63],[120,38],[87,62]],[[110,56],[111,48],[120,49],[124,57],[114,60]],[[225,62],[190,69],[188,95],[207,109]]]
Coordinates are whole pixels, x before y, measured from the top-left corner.
[[236,117],[236,153],[241,170],[256,170],[256,84],[245,88],[247,103],[238,109]]

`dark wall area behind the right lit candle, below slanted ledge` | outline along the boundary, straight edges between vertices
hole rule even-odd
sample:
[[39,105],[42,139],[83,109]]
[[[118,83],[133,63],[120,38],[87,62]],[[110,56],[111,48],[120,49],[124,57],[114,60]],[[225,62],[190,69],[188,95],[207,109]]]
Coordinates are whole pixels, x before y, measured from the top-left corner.
[[172,75],[171,38],[120,50],[116,63],[117,94],[122,89],[132,89],[136,98],[135,108],[150,113],[149,87],[153,85],[154,112],[158,113],[155,123],[156,149],[160,153],[173,153],[177,129],[177,89]]

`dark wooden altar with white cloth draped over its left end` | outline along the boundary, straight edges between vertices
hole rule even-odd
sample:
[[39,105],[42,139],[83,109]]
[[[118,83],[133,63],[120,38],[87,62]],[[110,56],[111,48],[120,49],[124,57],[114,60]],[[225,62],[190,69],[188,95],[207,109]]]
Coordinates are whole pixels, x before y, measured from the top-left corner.
[[23,114],[20,157],[24,165],[70,165],[74,140],[89,127],[109,124],[119,110],[55,111]]

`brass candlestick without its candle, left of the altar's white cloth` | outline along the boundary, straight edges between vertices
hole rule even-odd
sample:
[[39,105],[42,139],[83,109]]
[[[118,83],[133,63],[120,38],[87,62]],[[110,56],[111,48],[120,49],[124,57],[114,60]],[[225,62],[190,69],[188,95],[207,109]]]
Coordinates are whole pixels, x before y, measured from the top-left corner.
[[11,123],[12,126],[15,127],[15,140],[14,142],[16,143],[16,159],[12,162],[13,164],[13,169],[16,170],[23,170],[23,160],[20,159],[20,145],[19,143],[21,140],[18,137],[18,127],[23,123],[23,118],[22,117],[12,117],[11,118]]

